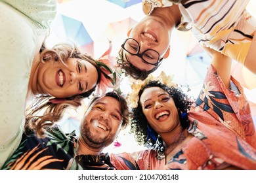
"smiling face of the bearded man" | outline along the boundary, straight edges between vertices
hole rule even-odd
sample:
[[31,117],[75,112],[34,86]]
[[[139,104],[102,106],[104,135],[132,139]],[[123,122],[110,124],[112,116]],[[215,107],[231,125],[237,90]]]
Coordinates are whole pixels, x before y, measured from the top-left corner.
[[114,97],[103,97],[87,110],[80,126],[80,136],[91,148],[105,148],[116,139],[121,122],[119,101]]

